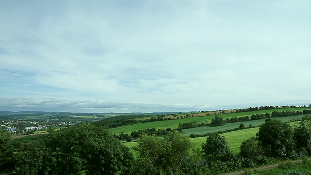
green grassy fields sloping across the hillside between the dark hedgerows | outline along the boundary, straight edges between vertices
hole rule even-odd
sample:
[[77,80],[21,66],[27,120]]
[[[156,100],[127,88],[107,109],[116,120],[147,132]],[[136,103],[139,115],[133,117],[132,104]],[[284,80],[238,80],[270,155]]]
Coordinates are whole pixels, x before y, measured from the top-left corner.
[[[289,108],[289,109],[275,109],[275,110],[263,110],[263,111],[252,111],[252,112],[241,112],[241,113],[226,113],[226,114],[217,114],[217,116],[222,116],[223,119],[231,118],[231,117],[244,117],[244,116],[251,116],[252,114],[265,114],[265,113],[271,113],[273,111],[302,111],[304,109],[310,110],[311,108]],[[194,115],[196,116],[196,115]],[[301,119],[305,115],[299,115],[299,116],[288,116],[288,117],[277,117],[277,118],[270,118],[272,120],[278,119],[282,122],[288,122],[289,124],[295,126],[298,125],[300,122],[289,122],[294,121],[295,119]],[[139,123],[139,124],[133,124],[128,126],[121,126],[117,128],[109,129],[110,132],[115,134],[128,133],[130,134],[132,131],[138,131],[139,129],[148,129],[148,128],[155,128],[157,129],[176,129],[179,125],[179,123],[187,123],[187,122],[197,122],[197,123],[210,123],[211,119],[213,119],[215,115],[209,115],[209,116],[202,116],[202,117],[189,117],[189,118],[183,118],[183,119],[175,119],[175,120],[165,120],[165,121],[156,121],[156,122],[149,122],[149,123]],[[223,126],[217,126],[217,127],[209,127],[209,126],[203,126],[203,127],[196,127],[196,128],[190,128],[190,129],[183,129],[185,136],[190,136],[190,134],[206,134],[209,132],[218,132],[218,131],[224,131],[227,129],[233,129],[239,127],[241,123],[244,124],[245,127],[248,127],[250,124],[252,126],[260,126],[265,122],[265,119],[260,120],[251,120],[251,121],[245,121],[245,122],[236,122],[236,123],[227,123]],[[259,131],[259,127],[255,128],[248,128],[238,131],[232,131],[228,133],[221,134],[225,137],[225,140],[228,142],[229,148],[232,150],[233,153],[238,154],[240,151],[240,145],[244,140],[247,140],[248,138],[252,136],[256,136],[256,133]],[[207,137],[197,137],[197,138],[191,138],[192,142],[194,143],[195,148],[201,148],[202,144],[205,143]],[[132,148],[133,146],[137,145],[137,142],[130,142],[130,143],[123,143],[125,146]],[[137,153],[132,150],[132,153],[134,155],[137,155]]]

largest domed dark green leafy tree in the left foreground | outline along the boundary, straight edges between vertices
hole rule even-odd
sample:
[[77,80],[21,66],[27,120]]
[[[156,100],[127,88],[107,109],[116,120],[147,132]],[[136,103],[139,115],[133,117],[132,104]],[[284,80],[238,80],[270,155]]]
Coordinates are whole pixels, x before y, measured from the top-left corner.
[[114,175],[126,171],[133,155],[102,127],[81,124],[48,135],[48,174]]

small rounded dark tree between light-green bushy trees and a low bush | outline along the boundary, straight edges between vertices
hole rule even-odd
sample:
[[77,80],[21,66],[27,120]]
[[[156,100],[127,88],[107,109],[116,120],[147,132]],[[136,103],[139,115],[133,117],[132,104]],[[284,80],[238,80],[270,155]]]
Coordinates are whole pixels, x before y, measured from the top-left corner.
[[208,161],[227,161],[233,156],[227,142],[223,136],[213,133],[206,139],[206,143],[202,145],[204,158]]

